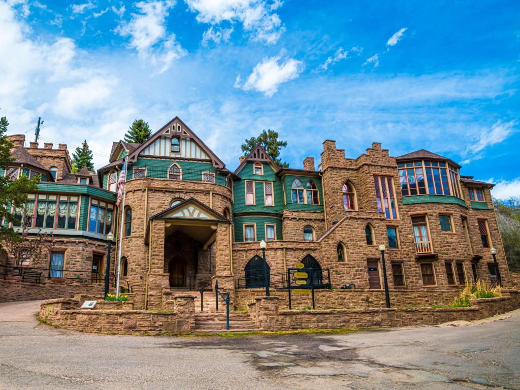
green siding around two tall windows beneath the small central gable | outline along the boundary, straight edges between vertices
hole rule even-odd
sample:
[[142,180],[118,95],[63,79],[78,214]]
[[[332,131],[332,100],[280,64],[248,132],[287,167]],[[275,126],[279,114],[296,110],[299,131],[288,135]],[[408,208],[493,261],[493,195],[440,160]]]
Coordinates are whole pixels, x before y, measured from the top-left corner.
[[[248,162],[238,173],[242,180],[235,182],[233,193],[235,196],[233,203],[233,213],[279,213],[283,211],[283,191],[282,182],[275,172],[264,163],[264,174],[253,174],[254,162]],[[245,180],[255,182],[255,204],[245,204]],[[272,195],[275,202],[274,206],[266,206],[264,198],[264,181],[270,181],[273,184]]]

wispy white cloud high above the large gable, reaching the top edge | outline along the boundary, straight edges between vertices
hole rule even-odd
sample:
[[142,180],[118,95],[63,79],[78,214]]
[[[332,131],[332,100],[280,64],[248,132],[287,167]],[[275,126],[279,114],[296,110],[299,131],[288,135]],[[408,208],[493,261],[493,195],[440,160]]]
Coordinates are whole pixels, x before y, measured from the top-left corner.
[[129,36],[129,46],[136,49],[139,57],[157,66],[158,72],[168,70],[172,63],[187,52],[176,41],[175,34],[166,31],[168,10],[175,1],[138,2],[134,6],[139,14],[132,14],[131,21],[121,24],[116,32]]

